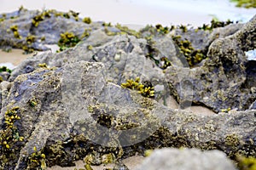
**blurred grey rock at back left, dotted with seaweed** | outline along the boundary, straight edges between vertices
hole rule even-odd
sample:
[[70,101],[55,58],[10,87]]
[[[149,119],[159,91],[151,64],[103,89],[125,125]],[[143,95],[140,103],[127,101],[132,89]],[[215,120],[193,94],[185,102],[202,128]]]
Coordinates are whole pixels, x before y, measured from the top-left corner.
[[[55,10],[27,10],[20,8],[10,14],[1,14],[0,46],[11,46],[13,48],[34,48],[38,50],[48,50],[44,44],[56,44],[61,33],[73,32],[82,37],[84,31],[93,31],[102,28],[102,23],[94,22],[86,24],[81,19],[73,16],[73,12],[58,12]],[[33,20],[35,20],[33,22]],[[38,24],[38,25],[37,25]],[[17,26],[20,38],[15,37],[12,26]],[[34,36],[32,42],[27,41],[27,37]]]

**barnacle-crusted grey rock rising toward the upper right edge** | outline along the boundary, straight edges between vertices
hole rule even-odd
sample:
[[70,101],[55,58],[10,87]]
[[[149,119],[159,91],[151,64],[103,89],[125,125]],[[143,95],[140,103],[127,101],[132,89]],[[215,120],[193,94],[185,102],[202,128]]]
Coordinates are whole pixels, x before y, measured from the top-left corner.
[[255,48],[255,18],[230,37],[212,42],[208,59],[200,67],[173,65],[166,70],[166,80],[179,104],[206,105],[215,112],[249,108],[255,100],[255,94],[250,93],[255,84],[251,61],[244,52]]

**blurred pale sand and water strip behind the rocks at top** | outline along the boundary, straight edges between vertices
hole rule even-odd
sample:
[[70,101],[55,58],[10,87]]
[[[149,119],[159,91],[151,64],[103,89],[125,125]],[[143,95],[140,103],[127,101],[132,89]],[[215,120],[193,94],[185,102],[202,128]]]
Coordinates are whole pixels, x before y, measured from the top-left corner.
[[256,14],[255,8],[237,8],[230,0],[0,0],[0,13],[15,11],[21,5],[63,12],[72,9],[80,17],[131,26],[202,26],[212,18],[247,22]]

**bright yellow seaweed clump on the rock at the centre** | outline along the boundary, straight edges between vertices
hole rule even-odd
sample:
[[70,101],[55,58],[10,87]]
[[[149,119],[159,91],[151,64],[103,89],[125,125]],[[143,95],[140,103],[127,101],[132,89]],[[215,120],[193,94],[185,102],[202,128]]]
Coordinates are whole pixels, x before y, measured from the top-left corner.
[[121,84],[122,88],[130,88],[132,90],[137,90],[139,94],[142,94],[143,97],[154,98],[154,87],[151,83],[143,84],[140,82],[140,78],[137,77],[134,80],[127,80],[125,83]]

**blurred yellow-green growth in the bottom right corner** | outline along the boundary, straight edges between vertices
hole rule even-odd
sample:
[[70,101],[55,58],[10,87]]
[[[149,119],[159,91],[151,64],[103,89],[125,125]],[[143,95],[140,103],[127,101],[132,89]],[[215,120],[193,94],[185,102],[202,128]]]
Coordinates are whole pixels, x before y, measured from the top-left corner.
[[256,170],[256,157],[236,156],[239,170]]

